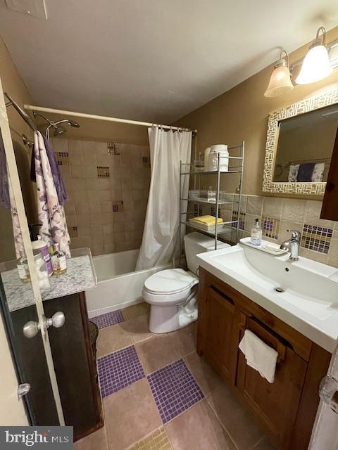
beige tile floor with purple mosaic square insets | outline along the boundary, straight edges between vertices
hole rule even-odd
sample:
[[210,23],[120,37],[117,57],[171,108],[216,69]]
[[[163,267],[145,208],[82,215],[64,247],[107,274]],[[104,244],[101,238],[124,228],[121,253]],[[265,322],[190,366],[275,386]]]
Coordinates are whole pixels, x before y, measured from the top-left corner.
[[149,306],[140,303],[91,319],[101,329],[97,364],[106,425],[75,449],[273,450],[196,354],[196,323],[158,336],[149,333],[148,315]]

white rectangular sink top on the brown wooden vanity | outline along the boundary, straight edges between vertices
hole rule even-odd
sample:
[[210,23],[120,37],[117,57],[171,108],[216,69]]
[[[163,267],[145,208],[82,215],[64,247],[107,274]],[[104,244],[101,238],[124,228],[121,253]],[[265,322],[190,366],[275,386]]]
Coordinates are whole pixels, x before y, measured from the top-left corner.
[[[332,352],[338,336],[338,269],[238,244],[197,255],[200,266]],[[279,292],[282,291],[282,292]]]

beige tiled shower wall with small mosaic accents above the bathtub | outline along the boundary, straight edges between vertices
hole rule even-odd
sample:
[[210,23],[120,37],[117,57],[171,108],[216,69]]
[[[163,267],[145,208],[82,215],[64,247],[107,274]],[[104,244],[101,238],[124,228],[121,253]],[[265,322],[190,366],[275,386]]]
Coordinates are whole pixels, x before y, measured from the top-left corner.
[[150,183],[149,147],[53,139],[68,200],[71,248],[93,255],[139,248]]

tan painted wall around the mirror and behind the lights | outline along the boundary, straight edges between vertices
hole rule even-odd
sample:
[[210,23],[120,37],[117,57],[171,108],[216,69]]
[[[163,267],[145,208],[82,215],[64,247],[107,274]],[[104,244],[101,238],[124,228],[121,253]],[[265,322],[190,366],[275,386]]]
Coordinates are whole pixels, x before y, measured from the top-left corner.
[[[327,41],[338,39],[338,27],[327,32]],[[282,45],[282,42],[281,42]],[[308,44],[290,55],[290,63],[303,58]],[[276,51],[276,59],[277,59]],[[327,89],[338,88],[338,69],[327,79],[307,86],[295,86],[289,94],[277,98],[265,98],[273,65],[235,86],[225,94],[215,98],[182,117],[175,124],[198,129],[197,148],[204,151],[214,143],[236,145],[243,139],[246,143],[244,169],[244,193],[261,194],[265,137],[268,115],[274,110],[301,101],[310,96],[322,94]],[[232,190],[234,186],[223,186]]]

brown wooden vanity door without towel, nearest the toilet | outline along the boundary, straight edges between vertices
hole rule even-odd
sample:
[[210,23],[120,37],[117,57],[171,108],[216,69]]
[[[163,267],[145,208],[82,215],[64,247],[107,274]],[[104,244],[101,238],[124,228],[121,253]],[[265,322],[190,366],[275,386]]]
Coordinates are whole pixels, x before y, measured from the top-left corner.
[[234,385],[240,329],[244,314],[230,297],[208,286],[199,302],[198,351],[227,380]]

